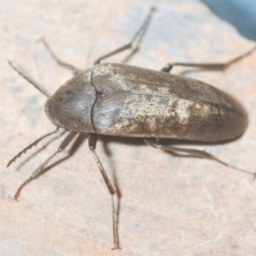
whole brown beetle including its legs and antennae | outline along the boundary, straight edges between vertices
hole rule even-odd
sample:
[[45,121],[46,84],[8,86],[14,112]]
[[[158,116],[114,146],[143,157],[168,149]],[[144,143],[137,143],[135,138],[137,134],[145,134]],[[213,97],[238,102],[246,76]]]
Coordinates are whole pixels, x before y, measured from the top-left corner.
[[[113,242],[119,248],[118,212],[114,206],[114,188],[100,159],[96,154],[97,135],[119,137],[143,137],[154,148],[161,148],[177,155],[188,155],[216,160],[224,166],[228,163],[219,160],[205,151],[178,148],[160,143],[160,138],[186,139],[197,142],[225,142],[240,137],[247,127],[247,113],[232,96],[212,85],[194,79],[186,79],[170,74],[173,66],[225,69],[253,52],[255,47],[226,63],[183,63],[166,64],[160,72],[132,67],[125,64],[101,63],[109,56],[125,49],[131,49],[130,57],[137,52],[148,29],[154,9],[151,9],[143,25],[131,43],[103,55],[95,65],[80,71],[73,65],[60,61],[49,48],[49,53],[62,66],[73,70],[73,79],[63,84],[53,96],[49,96],[41,86],[28,79],[11,63],[10,65],[28,82],[48,97],[45,112],[57,126],[69,131],[57,151],[27,178],[15,193],[18,200],[21,190],[33,179],[39,177],[49,161],[60,154],[78,133],[89,134],[89,147],[113,201]],[[56,130],[56,131],[57,131]],[[44,137],[47,137],[51,132]],[[9,160],[10,166],[26,150],[35,146],[44,137],[30,144]],[[241,172],[247,172],[230,166]],[[252,172],[247,172],[253,174]]]

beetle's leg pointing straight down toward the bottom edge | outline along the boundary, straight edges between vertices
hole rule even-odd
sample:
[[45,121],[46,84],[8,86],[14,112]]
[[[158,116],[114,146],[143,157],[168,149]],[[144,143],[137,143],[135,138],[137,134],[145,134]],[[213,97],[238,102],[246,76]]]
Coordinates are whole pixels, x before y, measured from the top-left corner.
[[[102,166],[102,162],[99,159],[99,157],[96,154],[96,142],[97,142],[97,135],[96,134],[90,134],[89,138],[88,138],[88,142],[89,142],[89,148],[90,151],[92,152],[94,159],[96,160],[96,164],[99,167],[101,173],[102,173],[102,177],[107,185],[109,194],[111,195],[111,203],[112,203],[112,219],[113,219],[113,243],[114,243],[114,247],[113,250],[116,249],[120,249],[119,247],[119,230],[118,230],[118,224],[119,224],[119,198],[120,198],[120,193],[119,193],[119,189],[117,188],[117,191],[115,191],[115,189],[113,189],[113,185],[107,175],[107,173],[105,172],[103,166]],[[114,195],[117,195],[117,207],[115,207],[115,198]]]

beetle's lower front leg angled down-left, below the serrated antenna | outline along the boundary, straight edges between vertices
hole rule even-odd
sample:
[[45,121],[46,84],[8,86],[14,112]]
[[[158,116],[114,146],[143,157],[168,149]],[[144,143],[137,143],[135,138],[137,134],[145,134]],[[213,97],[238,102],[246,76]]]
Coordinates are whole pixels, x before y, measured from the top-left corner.
[[32,176],[27,178],[21,185],[20,187],[17,189],[16,193],[15,193],[15,201],[18,201],[19,197],[20,197],[20,192],[21,190],[28,184],[31,183],[32,180],[38,178],[39,176],[41,176],[44,173],[44,167],[47,166],[49,164],[49,161],[52,160],[53,158],[55,158],[55,156],[57,154],[60,154],[65,148],[67,148],[67,145],[73,140],[73,137],[75,137],[75,135],[77,134],[77,132],[74,131],[70,131],[67,134],[67,137],[65,137],[65,139],[62,141],[61,145],[59,146],[58,150],[52,154],[47,160],[44,161],[44,163],[40,166],[38,166],[37,170],[34,171],[32,173]]

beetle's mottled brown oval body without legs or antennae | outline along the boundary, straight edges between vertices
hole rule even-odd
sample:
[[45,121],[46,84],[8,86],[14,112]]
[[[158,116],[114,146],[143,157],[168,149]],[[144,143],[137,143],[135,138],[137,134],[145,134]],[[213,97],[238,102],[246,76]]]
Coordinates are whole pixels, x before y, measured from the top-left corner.
[[241,105],[211,85],[114,63],[67,81],[49,97],[45,112],[68,131],[124,137],[220,142],[247,126]]

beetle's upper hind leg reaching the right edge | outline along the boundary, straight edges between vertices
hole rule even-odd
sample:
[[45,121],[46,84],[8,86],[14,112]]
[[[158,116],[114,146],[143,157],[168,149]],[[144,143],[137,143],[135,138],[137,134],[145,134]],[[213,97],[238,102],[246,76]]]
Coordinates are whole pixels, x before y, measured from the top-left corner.
[[256,46],[254,46],[252,49],[247,50],[247,52],[236,56],[236,58],[231,59],[230,61],[226,61],[223,63],[186,63],[186,62],[173,62],[173,63],[167,63],[165,67],[161,69],[161,71],[164,72],[170,72],[172,67],[174,66],[182,66],[182,67],[198,67],[201,69],[210,69],[210,70],[220,70],[224,71],[237,61],[240,61],[241,59],[245,58],[247,55],[250,55],[253,53],[253,51],[256,49]]

